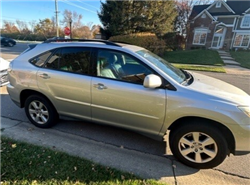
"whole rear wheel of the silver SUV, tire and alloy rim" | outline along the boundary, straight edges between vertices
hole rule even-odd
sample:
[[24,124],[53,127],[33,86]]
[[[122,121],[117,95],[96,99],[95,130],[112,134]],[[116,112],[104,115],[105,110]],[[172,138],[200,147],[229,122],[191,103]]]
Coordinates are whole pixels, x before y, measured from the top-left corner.
[[40,128],[50,128],[58,121],[54,106],[44,97],[31,95],[25,101],[25,113],[30,122]]

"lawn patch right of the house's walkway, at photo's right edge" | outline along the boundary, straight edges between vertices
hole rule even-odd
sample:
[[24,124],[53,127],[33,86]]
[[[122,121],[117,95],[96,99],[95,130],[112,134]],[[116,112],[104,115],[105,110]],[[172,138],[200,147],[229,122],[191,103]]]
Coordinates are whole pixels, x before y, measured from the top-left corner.
[[230,54],[242,67],[250,69],[250,51],[231,51]]

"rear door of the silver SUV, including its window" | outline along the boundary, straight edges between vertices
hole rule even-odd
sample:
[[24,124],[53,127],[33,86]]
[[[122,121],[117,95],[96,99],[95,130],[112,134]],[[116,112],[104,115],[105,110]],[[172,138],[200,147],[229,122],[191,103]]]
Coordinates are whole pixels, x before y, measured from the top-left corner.
[[37,72],[40,91],[62,115],[91,119],[90,55],[89,48],[61,48],[53,51]]

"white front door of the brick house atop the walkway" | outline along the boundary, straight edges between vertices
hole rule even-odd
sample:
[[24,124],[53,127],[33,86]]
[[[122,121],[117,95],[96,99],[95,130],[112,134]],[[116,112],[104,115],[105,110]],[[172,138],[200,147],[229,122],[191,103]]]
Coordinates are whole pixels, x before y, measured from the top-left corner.
[[226,28],[223,26],[217,26],[216,31],[214,33],[212,48],[221,49],[223,47],[225,34]]

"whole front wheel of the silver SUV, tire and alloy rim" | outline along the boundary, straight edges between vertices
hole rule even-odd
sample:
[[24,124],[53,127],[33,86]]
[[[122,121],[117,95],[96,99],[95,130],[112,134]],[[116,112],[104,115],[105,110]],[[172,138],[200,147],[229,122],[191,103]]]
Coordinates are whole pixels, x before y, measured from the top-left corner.
[[228,153],[223,134],[207,123],[187,123],[173,130],[170,148],[179,161],[198,169],[218,166]]

